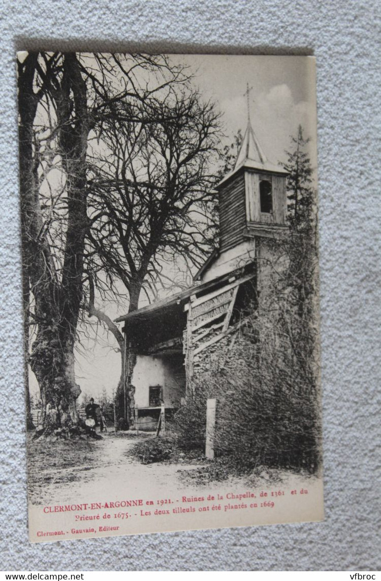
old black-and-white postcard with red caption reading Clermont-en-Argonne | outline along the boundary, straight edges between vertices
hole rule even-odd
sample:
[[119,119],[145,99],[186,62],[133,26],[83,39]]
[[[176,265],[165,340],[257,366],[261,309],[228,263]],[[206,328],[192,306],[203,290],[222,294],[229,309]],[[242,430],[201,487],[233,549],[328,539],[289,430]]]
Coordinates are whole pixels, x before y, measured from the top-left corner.
[[315,60],[17,73],[30,540],[321,520]]

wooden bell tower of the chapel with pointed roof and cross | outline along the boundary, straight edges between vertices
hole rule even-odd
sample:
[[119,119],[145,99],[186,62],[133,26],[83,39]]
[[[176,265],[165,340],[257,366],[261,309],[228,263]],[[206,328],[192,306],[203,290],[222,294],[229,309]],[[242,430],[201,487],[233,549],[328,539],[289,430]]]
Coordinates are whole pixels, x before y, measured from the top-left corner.
[[[248,88],[246,94],[249,94]],[[247,128],[233,171],[216,186],[219,246],[197,272],[195,281],[211,281],[254,263],[265,250],[264,239],[276,238],[288,231],[286,177],[287,171],[269,162],[259,145],[248,102]]]

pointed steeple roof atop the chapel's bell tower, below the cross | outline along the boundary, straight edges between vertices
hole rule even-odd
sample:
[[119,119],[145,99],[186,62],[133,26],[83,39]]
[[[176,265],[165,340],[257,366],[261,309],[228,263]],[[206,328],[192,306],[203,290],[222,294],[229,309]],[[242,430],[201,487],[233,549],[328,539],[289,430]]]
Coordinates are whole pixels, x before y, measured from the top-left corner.
[[287,175],[287,171],[285,171],[282,166],[277,166],[275,163],[269,162],[265,156],[261,145],[259,145],[258,138],[251,127],[250,117],[247,121],[246,131],[242,140],[241,148],[238,152],[236,163],[234,164],[234,169],[222,178],[217,187],[229,180],[234,174],[238,173],[242,167]]

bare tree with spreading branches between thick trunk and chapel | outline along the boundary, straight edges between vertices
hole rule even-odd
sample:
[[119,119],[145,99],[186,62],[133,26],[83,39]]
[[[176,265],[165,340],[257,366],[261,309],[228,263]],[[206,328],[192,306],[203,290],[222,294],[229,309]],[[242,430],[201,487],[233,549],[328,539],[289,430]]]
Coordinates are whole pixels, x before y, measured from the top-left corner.
[[[166,271],[168,263],[181,257],[183,269],[194,271],[215,244],[210,226],[219,114],[211,103],[202,103],[187,83],[166,87],[138,108],[138,121],[129,120],[124,103],[104,121],[102,148],[92,159],[88,198],[88,313],[117,340],[122,376],[124,337],[111,318],[95,307],[94,286],[100,297],[112,290],[117,298],[122,285],[131,312],[142,292],[152,300],[160,287],[174,285]],[[133,364],[131,360],[130,373]],[[128,383],[129,378],[124,379]]]

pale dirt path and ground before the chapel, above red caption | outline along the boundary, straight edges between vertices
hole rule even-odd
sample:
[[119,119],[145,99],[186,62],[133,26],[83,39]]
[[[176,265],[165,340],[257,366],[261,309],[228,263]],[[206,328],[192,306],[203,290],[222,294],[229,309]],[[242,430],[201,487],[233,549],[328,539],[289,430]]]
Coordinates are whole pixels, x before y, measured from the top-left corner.
[[[137,498],[151,498],[155,502],[176,498],[180,502],[182,496],[206,497],[213,491],[225,493],[248,489],[248,484],[242,478],[229,478],[212,485],[202,485],[198,480],[194,485],[187,485],[181,479],[180,471],[194,470],[196,464],[141,464],[128,454],[131,446],[151,437],[154,436],[134,436],[130,433],[116,436],[108,432],[102,440],[30,440],[30,503],[56,505]],[[301,476],[283,476],[283,488],[294,487],[300,490],[305,485],[305,478]],[[267,488],[269,485],[265,473],[256,477],[256,487]],[[270,486],[274,489],[278,487],[274,481]]]

